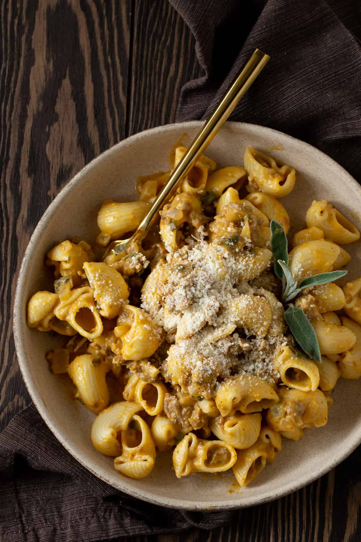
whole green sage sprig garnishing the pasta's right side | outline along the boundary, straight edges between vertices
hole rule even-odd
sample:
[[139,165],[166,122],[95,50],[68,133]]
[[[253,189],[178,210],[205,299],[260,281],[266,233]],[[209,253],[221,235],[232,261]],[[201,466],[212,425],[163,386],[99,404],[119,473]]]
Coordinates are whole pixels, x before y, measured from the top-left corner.
[[[285,230],[275,220],[271,220],[270,228],[274,273],[282,281],[282,301],[284,304],[289,304],[305,288],[327,284],[346,275],[347,271],[319,273],[307,277],[298,284],[293,278],[290,267],[288,267],[288,246]],[[285,311],[285,320],[301,349],[321,363],[317,335],[306,314],[300,308],[291,304]]]

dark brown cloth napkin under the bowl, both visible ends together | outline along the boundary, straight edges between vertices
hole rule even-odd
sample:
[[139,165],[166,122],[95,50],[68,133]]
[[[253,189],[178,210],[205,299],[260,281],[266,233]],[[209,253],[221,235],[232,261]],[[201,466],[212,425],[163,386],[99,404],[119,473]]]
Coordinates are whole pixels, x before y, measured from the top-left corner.
[[[271,61],[231,118],[309,141],[361,180],[359,0],[171,3],[191,28],[205,70],[183,88],[179,121],[207,117],[259,47]],[[116,491],[65,451],[34,405],[0,435],[0,540],[109,540],[210,529],[231,516],[174,511]]]

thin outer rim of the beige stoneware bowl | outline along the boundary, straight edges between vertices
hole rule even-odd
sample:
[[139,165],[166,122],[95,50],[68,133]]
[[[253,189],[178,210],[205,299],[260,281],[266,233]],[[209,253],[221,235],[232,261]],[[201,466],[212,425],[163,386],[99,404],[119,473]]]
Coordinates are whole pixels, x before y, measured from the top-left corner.
[[[325,463],[321,468],[317,469],[316,472],[310,473],[310,475],[305,476],[303,481],[300,482],[288,482],[283,487],[275,490],[273,493],[267,494],[263,498],[257,498],[247,496],[245,494],[242,494],[241,502],[235,499],[234,501],[218,501],[215,506],[204,506],[201,502],[194,502],[189,501],[187,499],[181,499],[181,502],[179,502],[179,499],[176,498],[169,498],[169,497],[163,497],[163,496],[154,496],[149,493],[147,490],[143,490],[141,487],[139,489],[133,489],[127,487],[127,479],[125,477],[119,477],[119,484],[114,485],[114,482],[107,478],[106,475],[102,475],[97,473],[93,468],[91,468],[82,458],[82,454],[78,452],[76,447],[71,446],[71,441],[67,441],[65,438],[63,438],[60,431],[58,431],[57,424],[53,423],[51,416],[48,415],[47,407],[45,406],[41,393],[36,389],[36,386],[34,384],[34,381],[32,379],[31,371],[29,369],[29,366],[27,364],[27,359],[25,357],[24,348],[22,345],[22,338],[21,338],[21,313],[23,311],[23,305],[22,305],[22,283],[25,280],[24,276],[24,268],[27,265],[29,254],[32,251],[33,246],[35,245],[37,238],[41,235],[42,229],[44,227],[44,223],[47,220],[48,215],[51,216],[52,212],[55,211],[57,207],[57,202],[60,201],[68,191],[71,190],[71,187],[80,180],[86,170],[91,169],[91,167],[94,167],[97,162],[99,162],[100,159],[106,158],[107,153],[114,152],[114,150],[117,147],[122,147],[123,145],[128,145],[132,143],[133,141],[140,139],[145,134],[152,134],[155,132],[159,132],[165,128],[172,128],[172,127],[180,127],[180,129],[185,128],[185,130],[188,128],[196,128],[201,127],[204,124],[204,121],[201,120],[193,120],[193,121],[185,121],[185,122],[175,122],[172,124],[166,124],[162,126],[155,126],[153,128],[148,128],[147,130],[143,130],[141,132],[138,132],[136,134],[130,135],[126,139],[122,139],[121,141],[118,141],[113,146],[109,147],[109,149],[103,151],[101,154],[93,158],[88,164],[84,165],[80,171],[76,173],[76,175],[70,179],[70,181],[65,184],[65,186],[62,188],[62,190],[56,195],[56,197],[52,200],[52,202],[49,204],[48,208],[44,211],[44,214],[40,218],[40,221],[37,223],[36,228],[34,232],[32,233],[28,246],[25,250],[21,267],[19,269],[19,274],[16,282],[16,293],[15,293],[15,300],[14,300],[14,309],[13,309],[13,330],[14,330],[14,341],[15,341],[15,350],[16,350],[16,356],[18,360],[18,364],[25,382],[25,385],[27,386],[29,395],[34,402],[38,412],[40,413],[41,417],[43,418],[44,422],[47,424],[48,428],[52,432],[52,434],[57,438],[57,440],[62,444],[62,446],[78,461],[83,467],[85,467],[87,470],[89,470],[91,473],[93,473],[97,478],[101,479],[102,481],[108,483],[111,487],[114,487],[118,491],[122,491],[128,495],[131,495],[137,499],[141,499],[143,501],[149,502],[151,504],[165,506],[167,508],[173,508],[173,509],[183,509],[183,510],[193,510],[193,511],[217,511],[217,510],[226,510],[226,509],[237,509],[237,508],[247,508],[251,506],[257,506],[261,504],[265,504],[267,502],[279,499],[281,497],[284,497],[286,495],[289,495],[290,493],[293,493],[294,491],[298,491],[298,489],[301,489],[308,485],[309,483],[313,482],[314,480],[317,480],[324,474],[328,473],[331,469],[336,467],[339,463],[344,461],[346,457],[348,457],[361,443],[361,429],[359,431],[358,435],[355,435],[351,442],[349,443],[350,446],[347,446],[347,449],[344,450],[343,453],[339,454],[332,462],[329,461],[328,463]],[[274,128],[269,128],[267,126],[262,126],[258,124],[251,124],[250,122],[236,122],[236,121],[227,121],[225,123],[225,126],[229,127],[237,127],[240,128],[241,126],[245,127],[253,127],[253,128],[259,128],[260,130],[265,130],[267,132],[272,132],[276,135],[281,135],[283,138],[287,138],[293,141],[297,141],[297,144],[303,147],[306,151],[316,153],[320,159],[327,160],[327,162],[332,163],[332,166],[334,170],[337,172],[342,172],[343,176],[348,177],[348,181],[354,186],[355,189],[358,191],[360,190],[360,185],[357,182],[355,178],[353,178],[349,172],[347,172],[344,167],[342,167],[340,164],[336,162],[336,160],[333,160],[333,158],[329,157],[327,154],[325,154],[323,151],[320,151],[313,145],[310,145],[309,143],[305,143],[305,141],[302,141],[300,139],[294,138],[292,135],[288,135],[284,132],[281,132],[279,130],[274,130]],[[235,134],[235,137],[237,137],[237,134]]]

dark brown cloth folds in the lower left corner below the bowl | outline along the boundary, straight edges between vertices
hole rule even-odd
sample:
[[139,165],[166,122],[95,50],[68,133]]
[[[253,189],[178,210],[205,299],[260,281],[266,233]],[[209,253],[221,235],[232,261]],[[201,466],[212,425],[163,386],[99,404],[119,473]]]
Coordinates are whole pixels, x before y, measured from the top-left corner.
[[186,512],[117,491],[82,467],[31,404],[0,435],[0,540],[88,542],[213,528],[232,512]]

